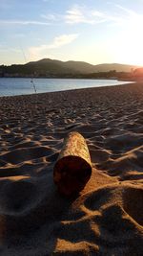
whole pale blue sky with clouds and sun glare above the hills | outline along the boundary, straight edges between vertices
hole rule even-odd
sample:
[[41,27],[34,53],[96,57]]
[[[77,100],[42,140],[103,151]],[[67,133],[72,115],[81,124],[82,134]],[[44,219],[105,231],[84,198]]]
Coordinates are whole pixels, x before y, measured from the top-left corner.
[[0,0],[0,64],[143,66],[143,0]]

